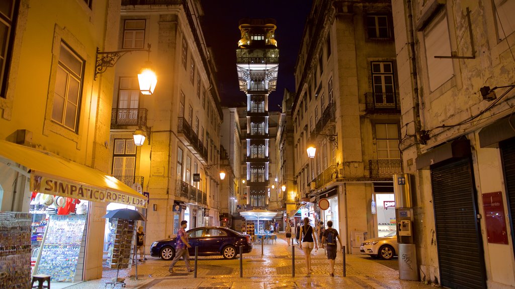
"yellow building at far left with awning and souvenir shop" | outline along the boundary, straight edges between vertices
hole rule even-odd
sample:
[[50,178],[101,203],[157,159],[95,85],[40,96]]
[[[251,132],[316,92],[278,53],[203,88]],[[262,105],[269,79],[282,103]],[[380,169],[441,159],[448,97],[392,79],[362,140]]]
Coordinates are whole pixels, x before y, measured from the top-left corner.
[[[96,52],[117,46],[120,4],[8,0],[2,7],[1,211],[30,212],[33,274],[53,282],[100,278],[107,204],[146,206],[110,175],[114,69],[95,79]],[[56,212],[64,198],[80,201],[77,211]],[[66,250],[45,245],[55,242]]]

